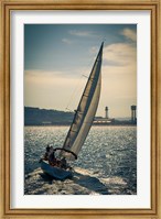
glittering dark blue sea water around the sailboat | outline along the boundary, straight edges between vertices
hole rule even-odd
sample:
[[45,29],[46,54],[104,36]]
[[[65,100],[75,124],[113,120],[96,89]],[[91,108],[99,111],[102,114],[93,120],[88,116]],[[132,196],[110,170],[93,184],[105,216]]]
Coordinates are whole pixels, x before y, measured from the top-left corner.
[[136,127],[92,127],[72,164],[74,176],[62,182],[45,175],[39,160],[47,144],[62,146],[67,131],[68,127],[24,128],[24,194],[137,194]]

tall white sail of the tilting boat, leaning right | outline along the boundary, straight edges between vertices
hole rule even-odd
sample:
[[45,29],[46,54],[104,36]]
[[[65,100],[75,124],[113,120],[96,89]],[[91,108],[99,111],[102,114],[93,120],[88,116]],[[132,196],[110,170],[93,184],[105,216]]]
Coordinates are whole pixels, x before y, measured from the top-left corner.
[[[84,89],[83,96],[80,98],[79,105],[77,107],[73,122],[63,145],[63,149],[72,151],[76,155],[78,154],[89,132],[98,107],[101,86],[100,72],[103,46],[104,43],[101,43],[100,50],[94,63],[92,73],[89,75],[88,81]],[[61,155],[67,157],[68,160],[75,158],[73,154],[66,153],[64,151],[61,152]]]

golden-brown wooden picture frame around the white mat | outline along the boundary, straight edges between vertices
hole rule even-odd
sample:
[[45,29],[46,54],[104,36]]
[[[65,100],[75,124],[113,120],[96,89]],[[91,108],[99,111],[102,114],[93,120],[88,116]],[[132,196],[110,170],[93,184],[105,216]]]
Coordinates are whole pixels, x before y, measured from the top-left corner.
[[[10,209],[10,12],[13,10],[150,10],[151,11],[151,208],[150,209]],[[161,43],[159,0],[1,0],[0,74],[0,216],[1,218],[161,218],[160,125]]]

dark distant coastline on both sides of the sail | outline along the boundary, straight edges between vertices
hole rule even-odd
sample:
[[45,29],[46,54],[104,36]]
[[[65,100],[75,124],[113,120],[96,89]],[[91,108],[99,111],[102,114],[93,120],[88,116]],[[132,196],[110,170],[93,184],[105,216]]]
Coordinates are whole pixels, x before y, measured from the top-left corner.
[[[71,125],[74,112],[24,107],[24,125]],[[96,117],[93,125],[137,125],[130,118],[106,119]]]

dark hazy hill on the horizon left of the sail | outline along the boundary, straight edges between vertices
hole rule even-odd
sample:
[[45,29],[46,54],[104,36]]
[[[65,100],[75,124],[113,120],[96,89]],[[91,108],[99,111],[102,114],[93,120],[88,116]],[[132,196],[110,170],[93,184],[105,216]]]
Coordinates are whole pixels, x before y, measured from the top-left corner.
[[24,125],[71,124],[74,112],[24,107]]

